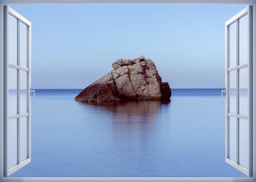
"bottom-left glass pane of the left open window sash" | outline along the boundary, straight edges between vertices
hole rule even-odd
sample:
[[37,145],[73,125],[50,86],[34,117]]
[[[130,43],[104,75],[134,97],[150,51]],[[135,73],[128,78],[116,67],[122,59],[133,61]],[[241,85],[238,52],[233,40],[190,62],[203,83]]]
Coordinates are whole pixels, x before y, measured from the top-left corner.
[[8,168],[18,164],[18,120],[16,118],[8,120]]

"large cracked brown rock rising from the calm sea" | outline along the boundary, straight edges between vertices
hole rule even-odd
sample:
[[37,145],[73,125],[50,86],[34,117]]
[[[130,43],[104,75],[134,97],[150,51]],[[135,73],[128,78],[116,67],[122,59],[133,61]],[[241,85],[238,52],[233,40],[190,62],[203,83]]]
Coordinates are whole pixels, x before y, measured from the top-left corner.
[[82,90],[76,101],[169,100],[170,86],[163,83],[151,59],[118,59],[114,70]]

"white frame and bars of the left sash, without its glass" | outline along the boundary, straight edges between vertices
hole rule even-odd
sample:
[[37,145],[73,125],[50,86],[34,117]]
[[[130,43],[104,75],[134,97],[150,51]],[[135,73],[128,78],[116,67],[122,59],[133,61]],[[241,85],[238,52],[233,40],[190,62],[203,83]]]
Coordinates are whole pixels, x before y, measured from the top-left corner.
[[[23,16],[21,16],[20,14],[18,14],[15,10],[12,10],[12,8],[10,7],[6,7],[4,9],[5,14],[7,15],[7,17],[5,17],[5,20],[8,19],[8,16],[12,16],[13,18],[16,18],[17,19],[17,32],[20,31],[20,23],[24,24],[25,26],[27,26],[27,66],[20,66],[20,32],[18,33],[18,40],[17,40],[17,43],[18,43],[18,64],[11,64],[9,62],[6,62],[5,63],[5,72],[6,74],[8,75],[8,70],[10,68],[12,69],[15,69],[18,71],[18,81],[17,81],[17,92],[18,92],[18,97],[16,98],[17,99],[17,104],[18,104],[18,114],[8,114],[8,81],[7,83],[5,84],[7,87],[5,88],[6,89],[6,92],[5,92],[5,105],[7,106],[7,108],[5,109],[5,112],[4,112],[4,116],[6,116],[5,118],[5,121],[8,123],[9,122],[9,119],[10,118],[16,118],[18,120],[18,123],[17,125],[20,125],[20,118],[21,117],[26,117],[27,119],[27,158],[24,160],[24,161],[20,161],[20,135],[18,135],[18,147],[17,147],[17,164],[12,166],[11,168],[8,168],[8,160],[7,160],[7,154],[8,154],[8,147],[5,148],[5,154],[6,154],[6,157],[5,157],[5,165],[4,165],[4,168],[5,168],[5,176],[8,176],[10,174],[13,174],[14,172],[16,172],[17,170],[20,170],[20,168],[22,168],[23,166],[27,165],[29,162],[31,162],[31,53],[30,53],[30,45],[31,45],[31,23],[29,21],[27,21],[27,19],[25,19]],[[8,32],[8,25],[5,25],[5,31],[6,33]],[[5,36],[7,36],[7,34],[5,34]],[[6,37],[7,38],[7,37]],[[8,46],[8,41],[7,41],[7,46]],[[8,52],[8,50],[6,49],[6,51]],[[8,54],[6,54],[6,60],[8,60]],[[20,72],[25,72],[27,73],[27,112],[25,113],[20,113]],[[5,124],[5,130],[8,131],[8,124]],[[18,133],[20,133],[20,127],[18,127]],[[17,133],[17,134],[18,134]],[[5,145],[8,146],[8,134],[7,132],[4,133],[5,135],[5,138],[4,138],[4,142],[5,142]]]

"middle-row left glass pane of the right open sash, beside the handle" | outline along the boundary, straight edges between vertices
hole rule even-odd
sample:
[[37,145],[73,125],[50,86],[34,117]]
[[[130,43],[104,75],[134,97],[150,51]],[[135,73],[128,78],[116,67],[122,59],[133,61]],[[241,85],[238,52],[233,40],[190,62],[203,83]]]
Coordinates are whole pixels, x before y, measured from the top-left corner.
[[236,114],[236,71],[229,72],[229,112]]

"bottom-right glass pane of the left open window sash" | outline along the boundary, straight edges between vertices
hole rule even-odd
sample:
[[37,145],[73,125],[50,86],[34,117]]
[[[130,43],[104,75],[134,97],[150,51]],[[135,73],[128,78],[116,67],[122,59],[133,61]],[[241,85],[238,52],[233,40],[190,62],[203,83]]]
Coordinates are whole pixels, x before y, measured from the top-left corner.
[[20,162],[27,159],[27,119],[20,118]]

